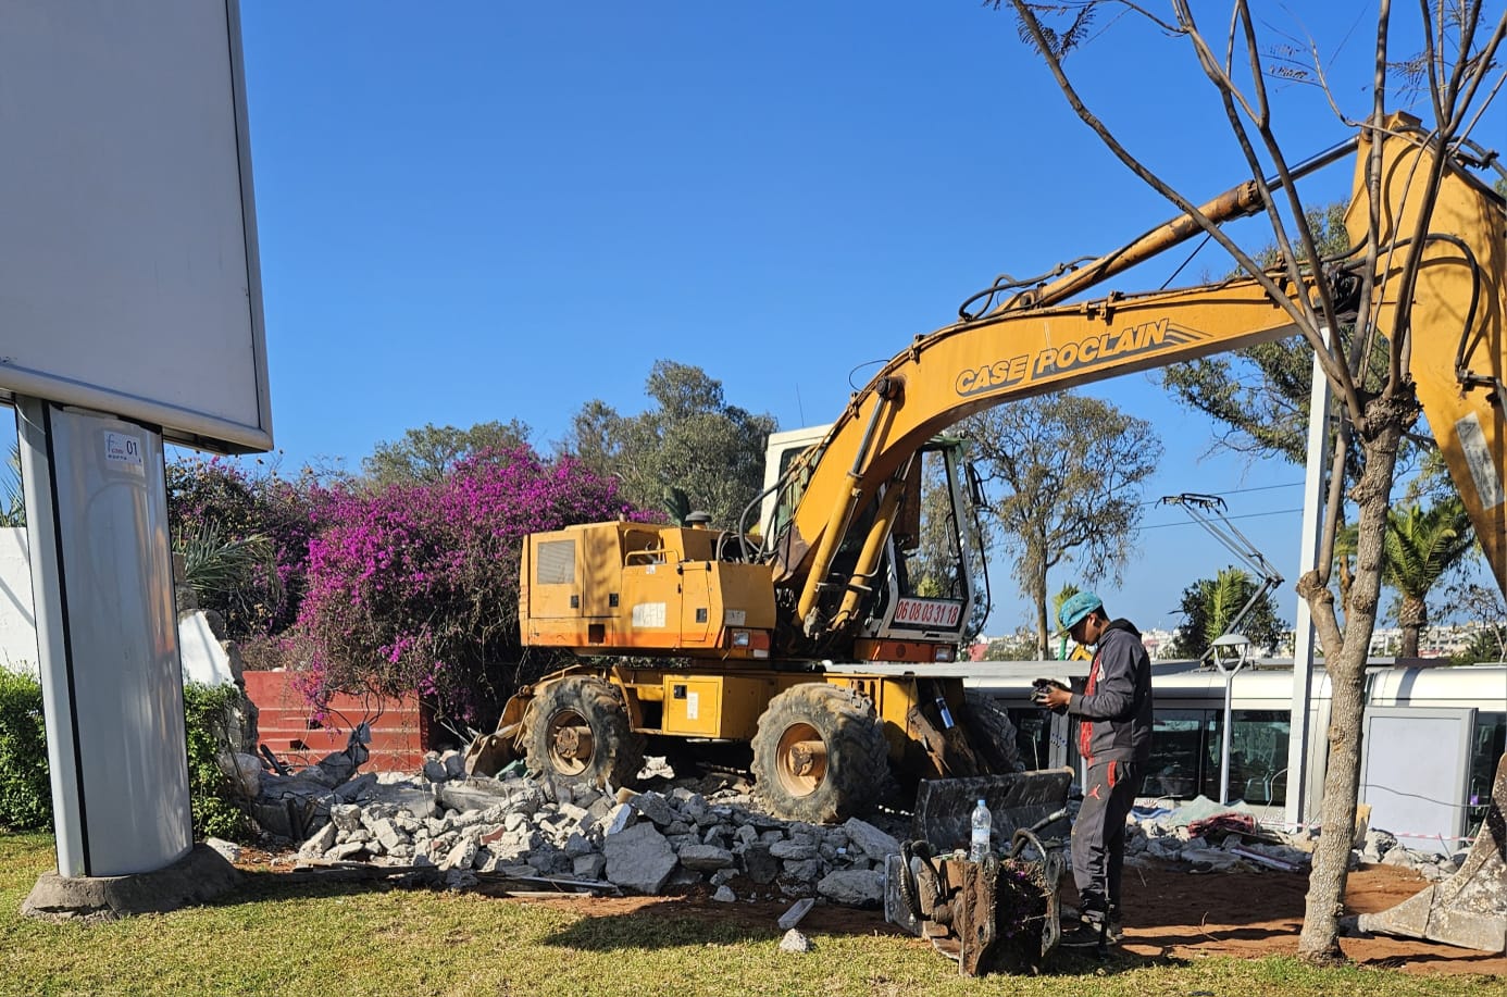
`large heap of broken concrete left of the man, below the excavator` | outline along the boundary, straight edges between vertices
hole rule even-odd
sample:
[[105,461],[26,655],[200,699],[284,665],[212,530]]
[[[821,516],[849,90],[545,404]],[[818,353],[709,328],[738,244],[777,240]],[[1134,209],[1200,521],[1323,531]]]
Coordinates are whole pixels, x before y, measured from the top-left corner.
[[607,795],[549,779],[467,779],[454,752],[431,756],[417,777],[368,773],[322,791],[329,773],[306,773],[264,774],[256,803],[288,830],[285,815],[306,816],[301,860],[433,866],[451,887],[497,874],[871,907],[883,899],[885,857],[900,851],[892,834],[857,818],[835,827],[772,818],[743,783],[719,777],[710,795],[686,785]]

